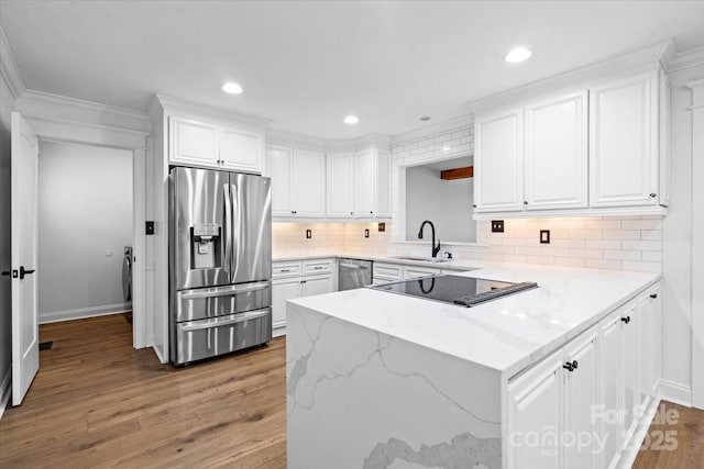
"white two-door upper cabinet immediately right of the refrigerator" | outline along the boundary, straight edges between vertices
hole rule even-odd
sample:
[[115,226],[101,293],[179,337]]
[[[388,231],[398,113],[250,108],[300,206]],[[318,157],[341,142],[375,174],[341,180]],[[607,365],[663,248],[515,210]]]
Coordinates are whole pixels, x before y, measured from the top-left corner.
[[265,176],[272,178],[273,216],[324,216],[323,153],[267,145],[264,171]]

